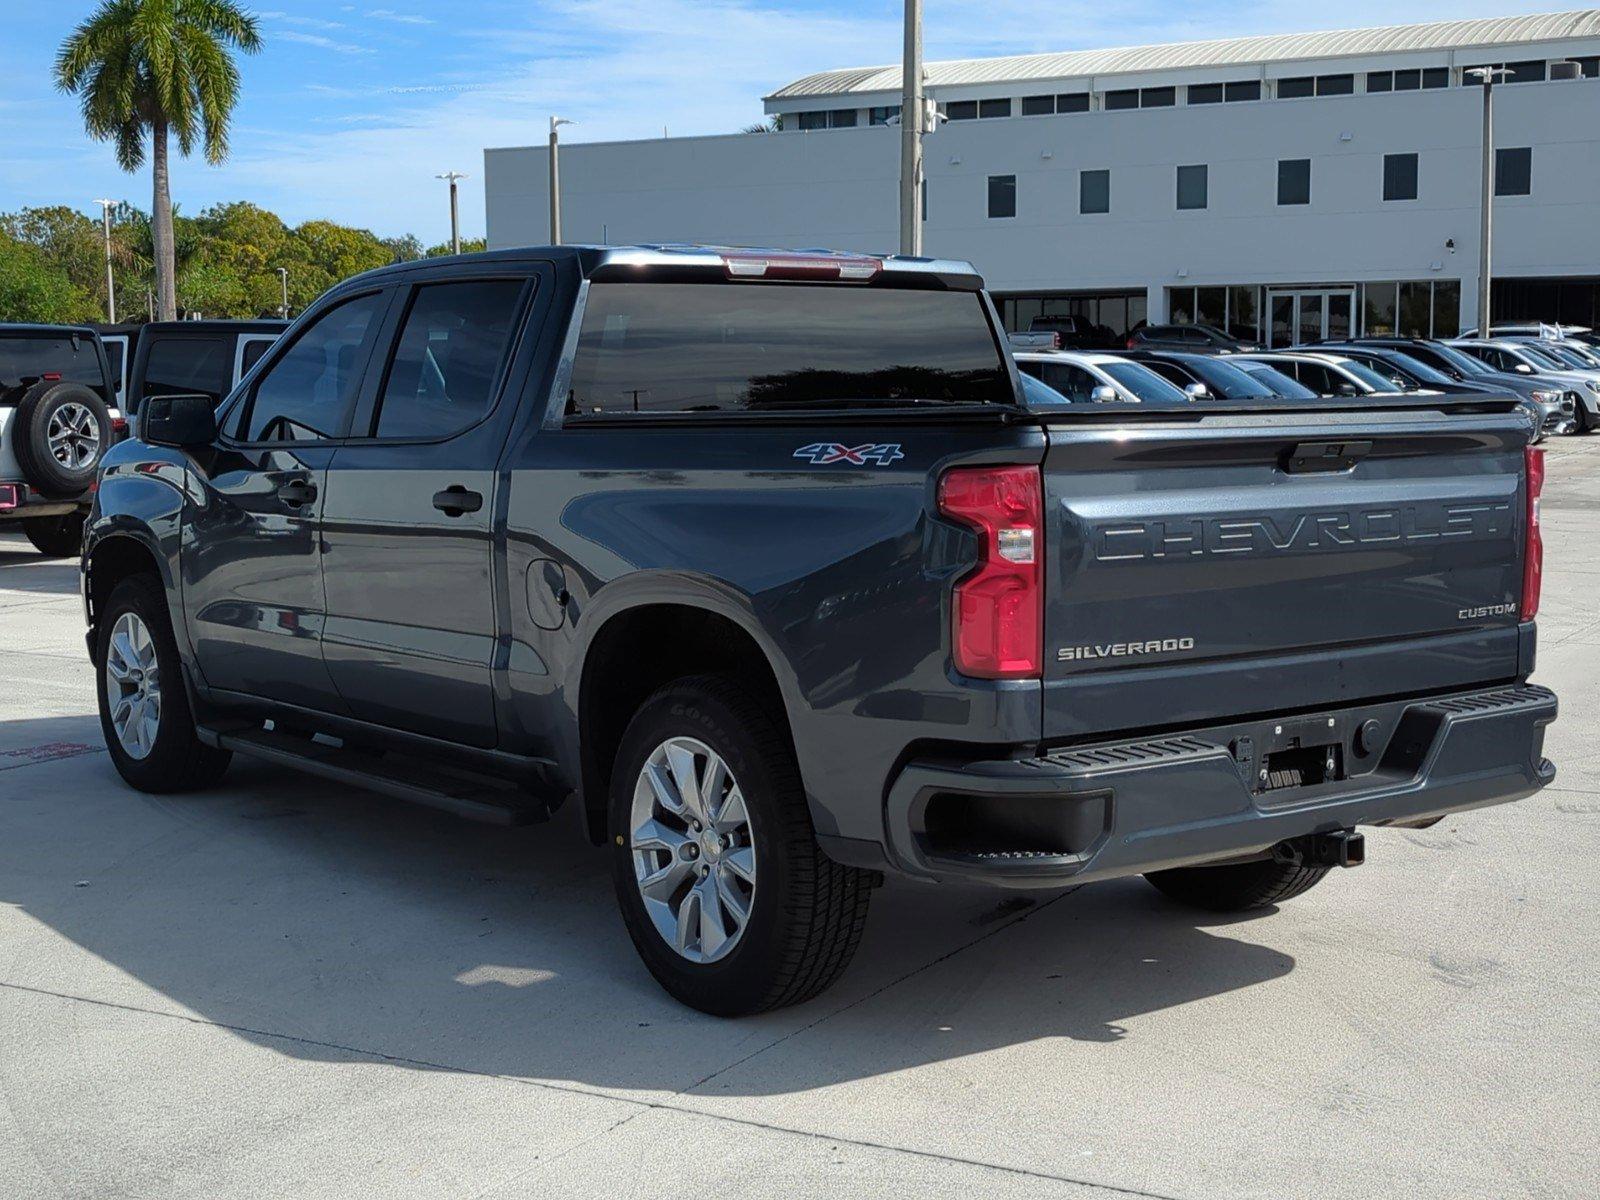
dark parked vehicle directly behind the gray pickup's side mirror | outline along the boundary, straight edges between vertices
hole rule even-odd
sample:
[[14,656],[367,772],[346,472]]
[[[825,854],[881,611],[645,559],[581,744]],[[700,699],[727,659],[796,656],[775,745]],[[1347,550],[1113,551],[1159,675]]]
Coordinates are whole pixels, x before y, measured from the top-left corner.
[[282,320],[150,322],[133,355],[128,413],[158,395],[205,394],[222,403],[286,328]]

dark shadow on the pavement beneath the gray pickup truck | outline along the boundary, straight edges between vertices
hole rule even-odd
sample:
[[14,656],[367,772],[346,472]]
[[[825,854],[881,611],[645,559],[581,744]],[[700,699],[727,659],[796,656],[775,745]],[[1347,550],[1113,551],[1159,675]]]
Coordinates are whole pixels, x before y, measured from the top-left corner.
[[245,760],[219,790],[146,797],[102,752],[27,758],[98,747],[93,717],[0,734],[24,752],[0,758],[0,906],[43,926],[5,939],[0,981],[198,1014],[307,1059],[784,1094],[1040,1038],[1106,1053],[1131,1018],[1294,966],[1141,880],[890,883],[832,992],[717,1021],[645,973],[571,813],[472,826]]

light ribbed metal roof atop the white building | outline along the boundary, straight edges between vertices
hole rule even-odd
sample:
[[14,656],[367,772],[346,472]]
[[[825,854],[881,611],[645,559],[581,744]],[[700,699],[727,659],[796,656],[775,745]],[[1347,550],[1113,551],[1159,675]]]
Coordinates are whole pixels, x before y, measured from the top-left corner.
[[[1496,16],[1475,21],[1435,21],[1426,26],[1382,26],[1339,29],[1326,34],[1267,34],[1262,37],[1174,42],[1125,50],[1069,50],[1053,54],[1013,54],[1010,58],[968,58],[926,64],[931,88],[1021,80],[1122,75],[1147,70],[1293,62],[1301,59],[1354,58],[1429,50],[1470,50],[1510,46],[1526,42],[1562,42],[1600,37],[1600,10]],[[795,96],[845,96],[851,93],[899,91],[901,67],[846,67],[822,70],[789,83],[765,99]]]

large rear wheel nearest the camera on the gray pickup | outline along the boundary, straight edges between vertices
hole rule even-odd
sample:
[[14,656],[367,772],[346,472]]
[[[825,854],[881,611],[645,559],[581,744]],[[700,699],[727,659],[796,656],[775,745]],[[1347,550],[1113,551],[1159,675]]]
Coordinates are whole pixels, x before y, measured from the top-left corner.
[[[666,755],[669,746],[677,758]],[[674,774],[674,762],[693,762],[688,776],[696,790],[707,782],[710,760],[694,747],[718,757],[728,774],[715,792],[722,800],[698,810],[685,805]],[[653,762],[664,790],[645,774]],[[682,819],[662,795],[683,805]],[[653,814],[648,829],[635,819],[640,811]],[[698,840],[691,811],[718,816]],[[677,850],[667,848],[672,838]],[[611,774],[610,853],[618,904],[640,958],[672,997],[702,1013],[747,1016],[810,1000],[838,979],[861,942],[874,875],[822,854],[779,718],[733,678],[677,680],[634,715]],[[654,888],[659,899],[646,901],[642,877],[661,878],[667,867],[682,874]],[[715,915],[707,917],[698,898],[691,906],[691,894],[710,896]],[[674,910],[688,917],[674,925]],[[674,941],[677,930],[686,931],[685,950],[666,930],[674,930]]]

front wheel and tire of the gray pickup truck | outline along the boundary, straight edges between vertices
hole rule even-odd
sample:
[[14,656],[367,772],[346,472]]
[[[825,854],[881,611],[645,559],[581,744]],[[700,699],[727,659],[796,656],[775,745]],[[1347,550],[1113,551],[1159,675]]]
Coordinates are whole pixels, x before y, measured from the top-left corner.
[[[234,755],[195,736],[166,597],[154,576],[130,576],[112,589],[99,614],[94,650],[101,731],[117,773],[141,792],[155,794],[187,792],[218,782]],[[138,678],[130,678],[133,672]],[[122,706],[112,696],[131,698],[125,722],[131,726],[150,712],[150,693],[155,698],[154,726],[141,720],[146,736],[120,733],[117,717]]]

